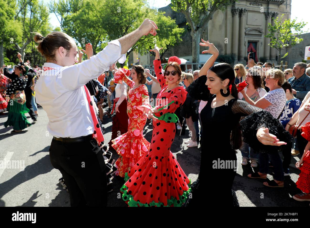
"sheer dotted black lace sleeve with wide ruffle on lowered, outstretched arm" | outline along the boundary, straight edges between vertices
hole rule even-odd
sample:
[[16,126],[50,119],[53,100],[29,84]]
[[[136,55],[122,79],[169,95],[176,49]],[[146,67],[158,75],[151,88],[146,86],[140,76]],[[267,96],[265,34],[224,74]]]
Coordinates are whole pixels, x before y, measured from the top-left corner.
[[[293,136],[284,129],[280,121],[274,118],[270,112],[241,100],[236,100],[232,104],[232,112],[246,116],[240,121],[243,141],[254,150],[260,153],[272,153],[292,146]],[[263,145],[256,137],[257,129],[260,127],[268,127],[269,133],[277,136],[280,141],[287,144],[281,146]]]

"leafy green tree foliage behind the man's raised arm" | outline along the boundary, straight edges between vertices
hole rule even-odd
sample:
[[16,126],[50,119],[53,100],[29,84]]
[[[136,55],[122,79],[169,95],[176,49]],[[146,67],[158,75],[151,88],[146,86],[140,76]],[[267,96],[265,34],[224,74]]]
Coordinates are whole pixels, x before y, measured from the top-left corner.
[[158,26],[157,36],[144,36],[126,53],[147,53],[157,46],[167,48],[181,41],[184,31],[175,20],[148,7],[144,0],[60,0],[50,4],[51,12],[59,18],[61,28],[81,46],[91,42],[94,53],[101,51],[108,41],[118,39],[139,27],[145,18]]

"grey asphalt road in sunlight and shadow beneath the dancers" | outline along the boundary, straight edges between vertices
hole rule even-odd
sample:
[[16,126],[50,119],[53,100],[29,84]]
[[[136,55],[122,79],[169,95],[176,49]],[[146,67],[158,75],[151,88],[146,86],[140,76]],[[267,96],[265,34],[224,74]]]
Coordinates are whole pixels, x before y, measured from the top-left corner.
[[[69,193],[62,189],[58,179],[61,173],[54,169],[49,158],[49,146],[52,136],[47,132],[48,118],[46,112],[39,108],[38,121],[28,127],[28,131],[11,134],[12,127],[4,128],[3,123],[7,120],[7,114],[0,115],[0,163],[4,159],[10,159],[19,168],[0,167],[0,206],[27,206],[27,207],[68,207],[70,206]],[[28,114],[26,116],[29,117]],[[31,118],[30,122],[31,122]],[[111,118],[104,118],[106,142],[111,139]],[[152,124],[144,128],[145,138],[151,141]],[[179,133],[179,131],[178,131]],[[187,148],[184,141],[188,140],[188,129],[186,134],[175,136],[171,151],[178,160],[185,174],[193,181],[198,177],[200,166],[199,147]],[[118,155],[113,154],[117,159]],[[250,179],[247,174],[251,172],[250,164],[240,164],[241,153],[237,150],[238,168],[233,184],[238,201],[242,207],[261,206],[309,206],[309,202],[298,202],[292,199],[294,194],[301,191],[296,188],[299,170],[294,168],[294,163],[299,157],[292,157],[290,167],[291,175],[285,177],[284,188],[268,188],[263,186],[263,180]],[[22,164],[24,162],[24,170]],[[257,168],[255,168],[256,171]],[[270,170],[271,173],[272,169]],[[225,181],[225,177],[219,177]],[[272,179],[272,175],[268,174]],[[125,207],[126,204],[119,199],[119,189],[124,184],[120,177],[113,179],[113,192],[108,194],[108,206]],[[212,183],[210,183],[211,185]],[[216,193],[214,193],[216,194]],[[210,196],[211,197],[211,196]]]

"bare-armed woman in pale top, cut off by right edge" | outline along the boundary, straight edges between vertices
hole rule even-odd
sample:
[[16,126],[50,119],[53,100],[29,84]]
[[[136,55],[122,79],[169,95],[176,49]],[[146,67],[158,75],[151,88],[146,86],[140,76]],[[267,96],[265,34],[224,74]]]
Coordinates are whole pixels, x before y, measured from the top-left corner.
[[290,121],[286,124],[285,130],[288,131],[292,125],[299,126],[297,131],[297,143],[298,143],[298,149],[300,153],[300,157],[303,156],[305,147],[308,143],[308,141],[301,136],[301,126],[305,125],[307,122],[310,122],[310,91],[307,93],[305,98],[303,99],[302,104],[300,105],[297,112],[295,112],[290,119]]

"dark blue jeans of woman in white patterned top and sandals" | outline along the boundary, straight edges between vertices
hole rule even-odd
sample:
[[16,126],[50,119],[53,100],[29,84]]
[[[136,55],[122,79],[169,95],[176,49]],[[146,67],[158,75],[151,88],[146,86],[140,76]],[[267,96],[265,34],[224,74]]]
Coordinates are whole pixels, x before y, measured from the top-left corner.
[[259,172],[268,173],[269,158],[273,165],[274,176],[277,181],[284,181],[284,172],[282,167],[282,160],[279,153],[259,153]]

